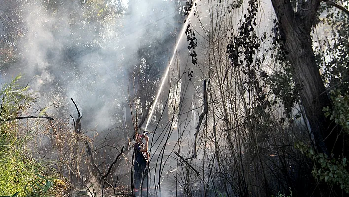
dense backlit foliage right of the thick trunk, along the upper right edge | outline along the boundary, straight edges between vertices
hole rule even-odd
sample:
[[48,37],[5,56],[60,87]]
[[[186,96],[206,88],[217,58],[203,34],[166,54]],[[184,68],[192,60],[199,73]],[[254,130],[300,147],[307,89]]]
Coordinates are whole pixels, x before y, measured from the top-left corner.
[[[345,9],[349,9],[345,1],[335,1]],[[318,12],[318,24],[314,37],[314,54],[320,66],[321,77],[328,88],[341,89],[348,92],[349,87],[349,17],[342,10],[322,3]]]

